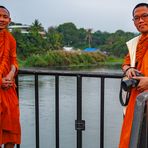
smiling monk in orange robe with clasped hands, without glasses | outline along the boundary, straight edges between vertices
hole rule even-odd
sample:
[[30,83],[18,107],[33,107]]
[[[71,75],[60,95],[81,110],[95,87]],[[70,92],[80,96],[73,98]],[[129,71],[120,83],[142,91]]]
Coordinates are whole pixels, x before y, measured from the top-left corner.
[[0,147],[14,148],[21,142],[19,103],[14,77],[17,74],[16,42],[6,30],[9,11],[0,6]]

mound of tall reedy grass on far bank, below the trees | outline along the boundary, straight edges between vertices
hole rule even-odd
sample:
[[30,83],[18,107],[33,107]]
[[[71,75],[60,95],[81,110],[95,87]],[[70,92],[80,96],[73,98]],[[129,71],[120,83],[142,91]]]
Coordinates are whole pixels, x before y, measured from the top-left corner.
[[46,54],[32,54],[25,61],[19,59],[21,67],[91,66],[105,62],[107,56],[100,52],[48,51]]

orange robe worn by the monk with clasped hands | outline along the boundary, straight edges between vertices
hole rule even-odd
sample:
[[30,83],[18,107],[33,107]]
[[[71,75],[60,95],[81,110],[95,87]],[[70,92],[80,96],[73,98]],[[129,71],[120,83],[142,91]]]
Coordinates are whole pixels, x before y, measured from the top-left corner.
[[19,144],[21,141],[20,113],[15,84],[9,89],[1,88],[2,77],[11,70],[18,69],[16,42],[7,31],[0,32],[0,145],[8,142]]

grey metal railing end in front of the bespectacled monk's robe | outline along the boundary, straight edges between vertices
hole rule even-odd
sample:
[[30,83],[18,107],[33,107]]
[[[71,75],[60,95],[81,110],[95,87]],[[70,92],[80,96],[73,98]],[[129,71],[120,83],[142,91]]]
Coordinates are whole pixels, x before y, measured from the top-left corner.
[[148,92],[136,98],[130,148],[148,148]]

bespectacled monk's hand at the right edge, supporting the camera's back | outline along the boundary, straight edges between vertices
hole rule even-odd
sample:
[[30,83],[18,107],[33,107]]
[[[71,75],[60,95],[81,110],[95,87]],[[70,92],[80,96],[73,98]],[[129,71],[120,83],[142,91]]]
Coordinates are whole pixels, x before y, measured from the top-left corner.
[[139,92],[148,90],[148,77],[133,77],[133,78],[139,81],[137,86],[137,90]]

